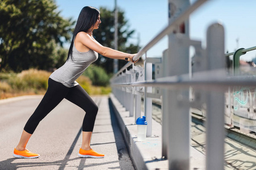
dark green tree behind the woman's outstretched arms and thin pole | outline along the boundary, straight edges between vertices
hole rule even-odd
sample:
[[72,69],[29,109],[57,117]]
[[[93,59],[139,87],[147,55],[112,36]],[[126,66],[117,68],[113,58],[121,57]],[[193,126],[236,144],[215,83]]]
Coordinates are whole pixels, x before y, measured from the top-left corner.
[[[104,46],[114,49],[114,11],[105,7],[100,8],[101,24],[100,27],[93,32],[94,38]],[[128,21],[125,19],[125,12],[118,10],[118,50],[126,53],[137,53],[138,45],[127,44],[127,40],[131,38],[135,31],[130,30]],[[127,63],[125,60],[118,60],[119,69]],[[113,59],[99,55],[95,62],[100,65],[107,73],[113,73]]]

